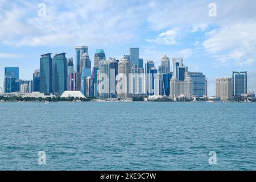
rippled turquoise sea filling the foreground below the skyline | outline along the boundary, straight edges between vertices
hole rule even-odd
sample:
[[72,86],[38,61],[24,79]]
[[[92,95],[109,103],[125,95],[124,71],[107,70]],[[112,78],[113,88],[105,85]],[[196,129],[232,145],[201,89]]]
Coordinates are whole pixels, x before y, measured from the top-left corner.
[[0,169],[256,170],[256,103],[2,102]]

